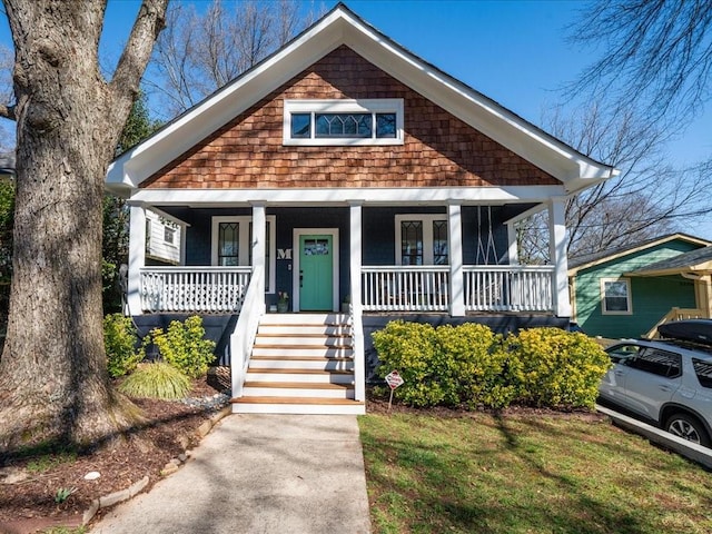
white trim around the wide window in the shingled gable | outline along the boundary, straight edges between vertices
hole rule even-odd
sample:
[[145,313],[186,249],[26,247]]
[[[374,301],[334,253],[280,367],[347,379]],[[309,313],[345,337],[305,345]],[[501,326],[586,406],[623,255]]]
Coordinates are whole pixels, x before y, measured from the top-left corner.
[[[308,139],[291,138],[291,113],[312,113],[312,136]],[[396,115],[396,137],[364,139],[359,138],[316,138],[314,135],[314,113],[395,113]],[[403,145],[404,140],[404,118],[402,98],[377,98],[363,100],[285,100],[284,111],[283,145],[303,147],[328,147],[328,146],[374,146],[374,145]]]

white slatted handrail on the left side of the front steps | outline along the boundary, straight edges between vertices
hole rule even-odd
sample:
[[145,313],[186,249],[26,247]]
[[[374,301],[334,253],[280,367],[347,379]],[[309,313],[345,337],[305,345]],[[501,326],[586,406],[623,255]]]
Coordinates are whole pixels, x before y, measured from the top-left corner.
[[264,277],[264,267],[255,267],[235,330],[230,335],[230,368],[234,398],[243,396],[243,386],[245,385],[249,358],[257,337],[257,328],[265,314]]

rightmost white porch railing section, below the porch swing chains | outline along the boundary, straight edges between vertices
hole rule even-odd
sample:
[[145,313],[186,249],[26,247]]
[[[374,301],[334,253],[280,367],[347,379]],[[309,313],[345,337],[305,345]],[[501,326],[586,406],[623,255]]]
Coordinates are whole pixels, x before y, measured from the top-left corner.
[[553,312],[553,266],[464,266],[467,312]]

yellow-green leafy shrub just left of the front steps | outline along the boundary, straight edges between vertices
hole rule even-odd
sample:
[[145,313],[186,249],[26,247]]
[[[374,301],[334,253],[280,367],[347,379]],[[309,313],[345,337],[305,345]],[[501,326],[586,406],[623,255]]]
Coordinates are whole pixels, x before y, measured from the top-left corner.
[[205,339],[202,319],[197,315],[188,317],[185,323],[171,322],[168,332],[155,328],[151,340],[164,360],[190,378],[204,376],[215,359],[215,342]]

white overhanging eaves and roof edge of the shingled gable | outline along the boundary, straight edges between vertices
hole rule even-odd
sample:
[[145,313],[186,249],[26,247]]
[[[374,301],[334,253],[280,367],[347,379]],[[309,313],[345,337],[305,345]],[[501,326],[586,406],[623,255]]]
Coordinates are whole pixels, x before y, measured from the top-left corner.
[[619,174],[446,75],[339,3],[310,28],[109,166],[107,186],[135,188],[234,117],[345,44],[575,192]]

